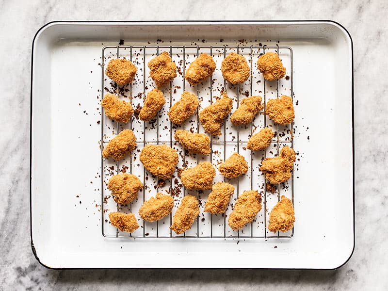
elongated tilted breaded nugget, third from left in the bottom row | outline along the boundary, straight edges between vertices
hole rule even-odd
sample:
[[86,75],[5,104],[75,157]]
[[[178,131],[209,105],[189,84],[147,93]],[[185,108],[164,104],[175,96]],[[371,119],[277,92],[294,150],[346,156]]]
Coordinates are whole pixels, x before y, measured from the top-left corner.
[[198,200],[192,195],[186,195],[182,199],[177,211],[174,214],[174,222],[170,227],[177,234],[181,234],[190,229],[195,218],[199,214]]

